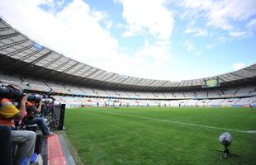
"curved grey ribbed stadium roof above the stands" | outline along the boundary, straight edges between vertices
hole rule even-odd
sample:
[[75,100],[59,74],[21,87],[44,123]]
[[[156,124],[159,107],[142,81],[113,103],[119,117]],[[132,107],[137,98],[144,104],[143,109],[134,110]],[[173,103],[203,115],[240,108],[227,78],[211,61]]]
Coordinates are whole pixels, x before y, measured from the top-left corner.
[[[84,50],[86,52],[86,50]],[[0,70],[7,73],[66,82],[87,87],[130,91],[168,91],[201,87],[204,80],[218,78],[221,85],[255,82],[256,64],[210,78],[172,82],[110,73],[50,50],[14,29],[0,18]]]

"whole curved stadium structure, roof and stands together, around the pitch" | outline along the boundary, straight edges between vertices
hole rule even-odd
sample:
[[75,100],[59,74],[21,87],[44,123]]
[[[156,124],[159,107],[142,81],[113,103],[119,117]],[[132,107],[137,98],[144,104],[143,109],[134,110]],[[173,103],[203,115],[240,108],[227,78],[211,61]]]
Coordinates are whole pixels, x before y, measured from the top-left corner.
[[[84,50],[86,52],[86,50]],[[39,45],[0,18],[1,85],[51,92],[69,106],[249,106],[256,64],[210,78],[172,82],[110,73]]]

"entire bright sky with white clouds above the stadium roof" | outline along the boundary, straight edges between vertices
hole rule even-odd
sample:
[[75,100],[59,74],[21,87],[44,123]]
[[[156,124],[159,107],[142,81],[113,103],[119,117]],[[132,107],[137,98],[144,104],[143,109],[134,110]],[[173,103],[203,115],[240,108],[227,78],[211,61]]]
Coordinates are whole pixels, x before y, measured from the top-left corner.
[[0,8],[40,45],[109,72],[178,81],[256,62],[255,0],[1,0]]

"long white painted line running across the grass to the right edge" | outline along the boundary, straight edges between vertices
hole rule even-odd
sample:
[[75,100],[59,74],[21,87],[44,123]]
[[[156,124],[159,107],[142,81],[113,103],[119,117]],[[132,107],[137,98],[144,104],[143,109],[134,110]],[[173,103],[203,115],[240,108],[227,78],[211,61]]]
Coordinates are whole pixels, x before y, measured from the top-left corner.
[[108,114],[113,114],[113,115],[125,115],[125,116],[129,116],[129,117],[146,119],[146,120],[156,120],[156,121],[161,121],[161,122],[166,122],[166,123],[175,123],[175,124],[180,124],[180,125],[192,125],[192,126],[204,127],[204,128],[207,128],[207,129],[214,129],[214,130],[229,130],[229,131],[235,131],[235,132],[256,134],[256,130],[235,130],[235,129],[227,129],[227,128],[222,128],[222,127],[216,127],[216,126],[208,126],[208,125],[198,125],[198,124],[193,124],[193,123],[185,123],[185,122],[175,121],[175,120],[155,119],[155,118],[152,118],[152,117],[145,117],[145,116],[140,116],[140,115],[129,115],[129,114],[121,114],[121,113],[115,113],[115,112],[107,112],[107,111],[100,111],[100,112],[108,113]]

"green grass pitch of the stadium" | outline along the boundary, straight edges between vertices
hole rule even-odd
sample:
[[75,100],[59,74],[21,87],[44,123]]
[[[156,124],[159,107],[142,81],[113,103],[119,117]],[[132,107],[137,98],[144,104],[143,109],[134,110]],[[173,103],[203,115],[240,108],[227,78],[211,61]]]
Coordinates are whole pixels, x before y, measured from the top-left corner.
[[[187,125],[183,123],[197,124]],[[256,164],[256,111],[248,108],[83,108],[66,110],[68,138],[85,164]],[[230,151],[216,149],[230,129]]]

